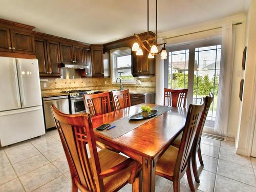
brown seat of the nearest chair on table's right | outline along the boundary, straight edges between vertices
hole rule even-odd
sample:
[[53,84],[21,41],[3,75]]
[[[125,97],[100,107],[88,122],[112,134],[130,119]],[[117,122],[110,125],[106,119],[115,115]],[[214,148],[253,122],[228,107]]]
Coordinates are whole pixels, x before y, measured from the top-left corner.
[[179,148],[170,145],[157,161],[156,174],[172,180]]

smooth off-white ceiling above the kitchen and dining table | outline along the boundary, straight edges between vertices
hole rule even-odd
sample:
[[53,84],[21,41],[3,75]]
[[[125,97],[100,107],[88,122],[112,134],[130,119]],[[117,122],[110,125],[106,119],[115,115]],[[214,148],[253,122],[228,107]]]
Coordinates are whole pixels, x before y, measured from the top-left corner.
[[[147,30],[146,0],[0,0],[0,18],[35,31],[104,44]],[[158,32],[245,12],[247,0],[159,0]],[[155,0],[150,0],[155,32]]]

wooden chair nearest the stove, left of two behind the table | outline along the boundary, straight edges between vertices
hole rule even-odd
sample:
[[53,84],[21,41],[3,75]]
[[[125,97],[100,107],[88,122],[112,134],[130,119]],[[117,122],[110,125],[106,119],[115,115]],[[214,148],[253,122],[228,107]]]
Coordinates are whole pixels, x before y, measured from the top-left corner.
[[83,102],[86,111],[93,117],[111,112],[109,92],[84,94]]

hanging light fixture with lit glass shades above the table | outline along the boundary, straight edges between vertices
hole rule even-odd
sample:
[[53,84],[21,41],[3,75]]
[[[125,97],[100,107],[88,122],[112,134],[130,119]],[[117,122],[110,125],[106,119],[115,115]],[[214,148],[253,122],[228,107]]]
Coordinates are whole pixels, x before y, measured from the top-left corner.
[[[134,34],[136,38],[136,42],[134,42],[132,51],[136,51],[136,55],[143,55],[142,48],[148,52],[148,58],[154,58],[155,55],[161,54],[161,59],[166,59],[167,58],[167,52],[165,49],[165,44],[157,44],[157,0],[156,0],[156,33],[155,37],[150,37],[150,32],[149,32],[149,13],[148,13],[148,0],[147,0],[147,38],[141,40],[139,35]],[[144,44],[146,42],[146,44]],[[157,46],[164,45],[164,47],[158,51]]]

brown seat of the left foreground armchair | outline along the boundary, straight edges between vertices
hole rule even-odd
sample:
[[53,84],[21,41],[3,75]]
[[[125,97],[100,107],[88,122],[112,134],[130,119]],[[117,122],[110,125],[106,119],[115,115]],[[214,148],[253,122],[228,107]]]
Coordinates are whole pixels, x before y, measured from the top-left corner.
[[[112,152],[106,148],[98,152],[99,156],[99,162],[100,162],[100,168],[101,172],[104,172],[104,170],[107,170],[123,161],[125,161],[127,158]],[[121,172],[103,178],[104,183],[104,189],[105,191],[113,191],[123,185],[126,181],[129,180],[132,173],[132,163],[129,167],[125,168]]]

